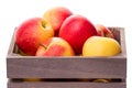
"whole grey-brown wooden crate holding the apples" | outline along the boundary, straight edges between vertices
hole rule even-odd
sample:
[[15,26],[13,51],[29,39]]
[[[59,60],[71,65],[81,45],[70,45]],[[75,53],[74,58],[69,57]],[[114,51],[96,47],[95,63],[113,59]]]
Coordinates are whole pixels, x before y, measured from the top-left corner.
[[16,82],[9,80],[9,88],[125,88],[127,51],[123,28],[109,28],[113,31],[116,40],[121,44],[121,54],[111,57],[42,57],[21,56],[14,36],[11,41],[7,56],[7,76],[13,78],[112,78],[122,79],[119,82]]

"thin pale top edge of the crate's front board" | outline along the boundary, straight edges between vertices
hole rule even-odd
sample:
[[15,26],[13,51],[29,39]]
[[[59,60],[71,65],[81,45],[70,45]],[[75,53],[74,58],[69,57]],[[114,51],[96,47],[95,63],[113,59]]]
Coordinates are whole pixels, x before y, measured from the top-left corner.
[[87,57],[87,56],[21,56],[21,55],[8,55],[7,58],[23,58],[23,59],[54,59],[54,58],[57,58],[57,59],[127,59],[127,56],[125,55],[117,55],[117,56],[108,56],[108,57]]

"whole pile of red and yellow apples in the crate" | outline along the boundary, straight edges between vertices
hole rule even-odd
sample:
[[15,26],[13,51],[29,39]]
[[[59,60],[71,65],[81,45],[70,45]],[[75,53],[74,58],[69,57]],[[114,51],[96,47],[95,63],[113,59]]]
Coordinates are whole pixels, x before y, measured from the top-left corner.
[[47,10],[16,28],[15,44],[32,56],[113,56],[121,53],[113,33],[64,7]]

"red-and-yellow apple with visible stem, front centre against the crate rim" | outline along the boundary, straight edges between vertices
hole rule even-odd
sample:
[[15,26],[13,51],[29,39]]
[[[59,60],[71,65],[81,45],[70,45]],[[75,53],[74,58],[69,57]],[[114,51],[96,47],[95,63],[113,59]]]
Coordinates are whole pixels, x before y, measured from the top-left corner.
[[36,56],[74,56],[72,46],[61,37],[44,41],[36,51]]

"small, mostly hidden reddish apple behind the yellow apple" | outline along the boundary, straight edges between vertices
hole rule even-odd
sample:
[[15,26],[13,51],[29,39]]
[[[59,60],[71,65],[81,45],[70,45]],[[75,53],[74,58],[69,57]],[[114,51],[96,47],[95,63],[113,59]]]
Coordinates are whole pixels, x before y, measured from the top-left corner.
[[96,24],[95,26],[97,29],[97,33],[98,33],[99,36],[106,36],[106,37],[114,38],[113,33],[108,28],[106,28],[105,25]]

